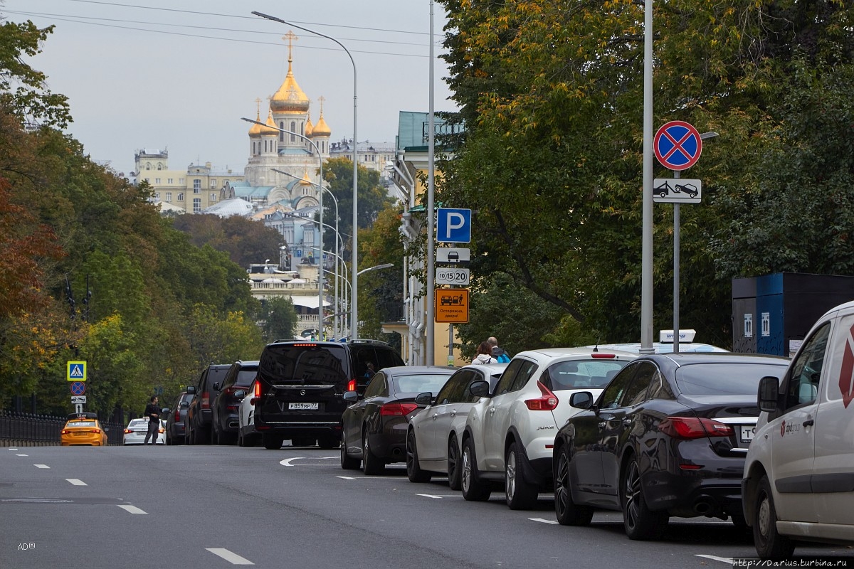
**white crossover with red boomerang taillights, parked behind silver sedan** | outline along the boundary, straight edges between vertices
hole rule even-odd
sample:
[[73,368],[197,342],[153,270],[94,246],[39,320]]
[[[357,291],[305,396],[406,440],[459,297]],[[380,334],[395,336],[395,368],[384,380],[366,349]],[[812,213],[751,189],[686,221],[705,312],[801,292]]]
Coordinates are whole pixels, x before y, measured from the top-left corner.
[[462,439],[462,491],[466,500],[487,500],[493,484],[504,483],[507,505],[529,509],[552,482],[554,437],[581,409],[570,406],[574,392],[598,397],[620,369],[638,357],[626,351],[549,348],[514,356],[490,392],[476,381],[474,405]]

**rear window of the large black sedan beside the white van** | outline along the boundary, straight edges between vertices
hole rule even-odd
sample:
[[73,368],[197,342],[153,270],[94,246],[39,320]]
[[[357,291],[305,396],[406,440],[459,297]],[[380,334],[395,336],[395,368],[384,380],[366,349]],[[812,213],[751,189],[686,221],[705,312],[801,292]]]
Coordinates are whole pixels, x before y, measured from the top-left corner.
[[685,395],[752,395],[759,380],[773,375],[778,380],[786,365],[767,363],[695,363],[676,369],[676,385]]

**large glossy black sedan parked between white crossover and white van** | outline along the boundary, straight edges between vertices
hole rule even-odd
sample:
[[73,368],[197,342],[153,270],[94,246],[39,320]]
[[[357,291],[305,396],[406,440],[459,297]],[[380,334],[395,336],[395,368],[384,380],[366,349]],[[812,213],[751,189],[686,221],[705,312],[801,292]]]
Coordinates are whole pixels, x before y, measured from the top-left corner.
[[554,509],[562,525],[588,525],[594,508],[623,511],[631,539],[658,539],[670,516],[741,514],[741,475],[765,375],[782,357],[676,353],[629,363],[554,441]]

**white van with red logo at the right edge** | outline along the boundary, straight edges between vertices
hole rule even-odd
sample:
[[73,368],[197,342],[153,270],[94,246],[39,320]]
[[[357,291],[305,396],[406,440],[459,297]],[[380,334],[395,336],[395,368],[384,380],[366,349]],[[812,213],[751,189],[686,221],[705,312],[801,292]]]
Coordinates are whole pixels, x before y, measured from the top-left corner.
[[854,302],[813,325],[779,386],[760,381],[758,404],[742,480],[757,554],[854,544]]

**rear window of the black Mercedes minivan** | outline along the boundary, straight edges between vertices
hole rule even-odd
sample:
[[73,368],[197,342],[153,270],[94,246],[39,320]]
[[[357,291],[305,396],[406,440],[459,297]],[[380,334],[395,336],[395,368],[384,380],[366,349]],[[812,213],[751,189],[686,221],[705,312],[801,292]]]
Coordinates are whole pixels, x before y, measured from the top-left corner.
[[346,357],[343,345],[267,345],[258,377],[272,385],[335,385],[348,380]]

